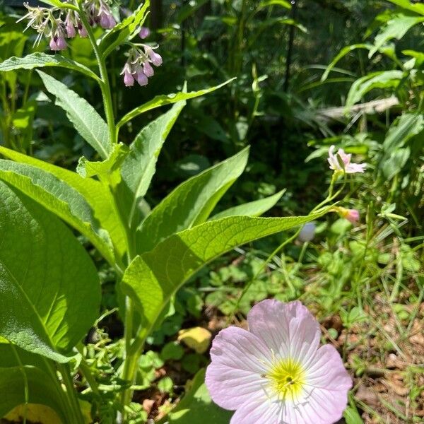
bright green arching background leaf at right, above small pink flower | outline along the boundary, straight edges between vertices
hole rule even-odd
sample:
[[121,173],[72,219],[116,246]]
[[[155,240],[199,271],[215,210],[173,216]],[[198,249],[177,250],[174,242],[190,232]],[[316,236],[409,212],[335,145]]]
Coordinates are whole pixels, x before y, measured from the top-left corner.
[[404,77],[402,71],[373,72],[358,78],[351,86],[346,100],[346,108],[359,102],[365,94],[374,88],[396,88]]

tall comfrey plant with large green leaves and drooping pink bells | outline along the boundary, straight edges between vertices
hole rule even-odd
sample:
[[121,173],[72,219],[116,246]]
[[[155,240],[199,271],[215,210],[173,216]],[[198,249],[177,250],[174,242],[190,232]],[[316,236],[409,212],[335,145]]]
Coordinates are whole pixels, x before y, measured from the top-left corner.
[[[158,95],[117,119],[107,60],[115,48],[147,37],[143,22],[148,1],[123,20],[106,1],[44,2],[52,8],[30,9],[27,15],[38,40],[47,37],[58,50],[65,36],[87,35],[98,71],[45,53],[12,57],[0,64],[0,71],[38,69],[47,92],[95,149],[98,161],[81,158],[73,172],[0,146],[6,158],[0,160],[0,391],[8,394],[1,396],[0,416],[20,404],[42,404],[54,409],[62,423],[82,424],[87,421],[81,406],[85,399],[92,411],[88,421],[129,423],[146,338],[172,310],[177,290],[204,264],[234,247],[323,216],[334,207],[341,192],[334,192],[334,183],[339,177],[346,180],[347,170],[341,165],[334,172],[329,196],[307,216],[259,218],[279,195],[213,216],[247,164],[245,149],[179,184],[151,208],[145,196],[158,155],[186,100],[220,86]],[[108,29],[96,38],[95,25]],[[147,44],[132,48],[126,85],[131,85],[131,76],[145,82],[141,71],[148,78],[153,75],[150,63],[162,61]],[[66,84],[40,71],[52,66],[98,83],[104,117]],[[172,107],[140,129],[129,146],[119,142],[122,126],[163,105]],[[343,164],[341,155],[338,160]],[[105,384],[103,370],[90,361],[83,343],[101,319],[98,272],[64,223],[85,236],[116,275],[124,336],[111,361],[111,384]],[[135,419],[139,422],[137,413]]]

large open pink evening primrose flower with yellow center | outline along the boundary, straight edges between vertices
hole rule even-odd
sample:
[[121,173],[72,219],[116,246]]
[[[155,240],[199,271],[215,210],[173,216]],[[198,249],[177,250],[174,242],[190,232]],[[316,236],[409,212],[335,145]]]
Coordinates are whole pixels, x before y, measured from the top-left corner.
[[332,424],[352,379],[336,349],[319,347],[319,323],[300,302],[263,300],[213,340],[206,386],[235,410],[230,424]]

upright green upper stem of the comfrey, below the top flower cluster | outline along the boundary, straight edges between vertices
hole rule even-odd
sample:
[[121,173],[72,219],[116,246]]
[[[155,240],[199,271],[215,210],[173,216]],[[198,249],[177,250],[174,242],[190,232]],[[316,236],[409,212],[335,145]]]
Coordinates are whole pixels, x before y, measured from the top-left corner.
[[80,11],[79,16],[81,18],[81,21],[84,27],[87,30],[88,38],[91,42],[91,45],[95,53],[95,57],[98,61],[100,78],[102,80],[100,81],[99,85],[100,85],[100,90],[102,90],[103,106],[105,107],[106,121],[107,121],[107,126],[109,128],[110,143],[113,145],[117,143],[117,129],[114,122],[112,93],[110,91],[110,81],[109,81],[109,76],[107,75],[106,64],[102,58],[102,54],[100,53],[100,49],[95,40],[93,29],[91,28],[90,23],[88,23],[86,13],[83,11],[81,0],[78,0],[78,8]]

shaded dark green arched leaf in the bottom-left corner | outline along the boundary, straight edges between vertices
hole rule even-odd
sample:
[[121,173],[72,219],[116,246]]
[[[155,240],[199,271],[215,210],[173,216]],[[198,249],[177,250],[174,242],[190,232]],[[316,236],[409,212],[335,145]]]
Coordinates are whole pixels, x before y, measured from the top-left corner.
[[30,404],[52,408],[63,423],[69,423],[61,397],[52,379],[37,367],[0,368],[0,417],[6,416],[16,406],[25,404],[25,387],[28,387]]

